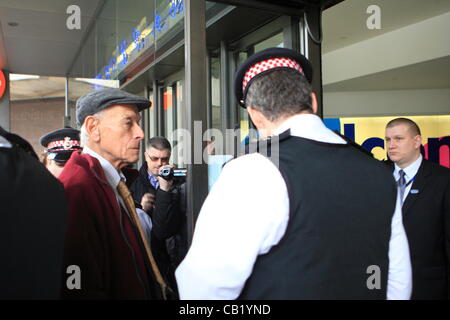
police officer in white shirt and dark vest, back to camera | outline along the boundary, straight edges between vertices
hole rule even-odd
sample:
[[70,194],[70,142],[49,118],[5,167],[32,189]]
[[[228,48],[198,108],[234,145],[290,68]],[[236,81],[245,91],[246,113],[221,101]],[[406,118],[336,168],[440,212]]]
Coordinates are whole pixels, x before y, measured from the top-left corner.
[[283,48],[238,70],[237,100],[279,158],[260,147],[225,165],[176,271],[182,299],[409,299],[390,172],[324,126],[311,79]]

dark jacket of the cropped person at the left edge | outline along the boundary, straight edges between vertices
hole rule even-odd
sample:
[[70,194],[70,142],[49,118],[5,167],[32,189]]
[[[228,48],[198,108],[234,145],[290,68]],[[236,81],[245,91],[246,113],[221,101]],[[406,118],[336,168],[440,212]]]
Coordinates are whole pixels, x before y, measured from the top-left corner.
[[9,137],[0,132],[0,300],[58,299],[65,273],[64,189],[32,149]]

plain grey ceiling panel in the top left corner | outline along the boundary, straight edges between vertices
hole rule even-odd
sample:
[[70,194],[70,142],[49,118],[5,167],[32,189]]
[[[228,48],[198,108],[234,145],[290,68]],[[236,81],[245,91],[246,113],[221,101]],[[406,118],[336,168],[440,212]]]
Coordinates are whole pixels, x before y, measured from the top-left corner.
[[[11,73],[65,76],[101,0],[0,0],[0,68]],[[78,5],[81,29],[66,26]],[[11,26],[9,23],[17,23]]]

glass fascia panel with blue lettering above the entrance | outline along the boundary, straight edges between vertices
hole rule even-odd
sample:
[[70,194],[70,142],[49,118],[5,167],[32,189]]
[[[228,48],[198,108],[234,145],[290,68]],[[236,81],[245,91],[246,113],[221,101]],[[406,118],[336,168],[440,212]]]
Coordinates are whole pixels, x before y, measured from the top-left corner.
[[151,63],[157,50],[176,36],[182,38],[183,19],[184,0],[106,0],[70,73],[124,78],[138,58]]

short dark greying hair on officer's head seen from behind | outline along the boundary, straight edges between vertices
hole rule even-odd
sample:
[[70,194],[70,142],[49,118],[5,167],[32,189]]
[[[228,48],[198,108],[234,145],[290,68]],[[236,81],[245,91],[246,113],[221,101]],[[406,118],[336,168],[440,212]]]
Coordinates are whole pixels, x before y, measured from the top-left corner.
[[261,111],[269,121],[277,121],[302,111],[312,113],[311,92],[311,85],[299,72],[274,70],[251,82],[245,105]]

